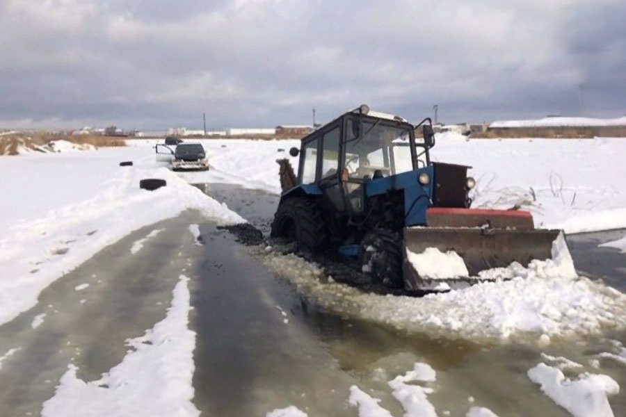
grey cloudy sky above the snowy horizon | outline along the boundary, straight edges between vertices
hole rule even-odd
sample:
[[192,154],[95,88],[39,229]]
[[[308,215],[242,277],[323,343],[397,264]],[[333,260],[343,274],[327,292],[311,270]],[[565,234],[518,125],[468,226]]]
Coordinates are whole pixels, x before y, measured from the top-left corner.
[[0,129],[271,127],[361,103],[619,117],[625,18],[624,0],[0,0]]

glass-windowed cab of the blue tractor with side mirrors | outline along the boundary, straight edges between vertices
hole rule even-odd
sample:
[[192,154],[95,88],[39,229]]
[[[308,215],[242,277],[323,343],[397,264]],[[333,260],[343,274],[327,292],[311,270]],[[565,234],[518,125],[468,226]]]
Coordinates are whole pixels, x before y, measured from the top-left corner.
[[402,117],[360,106],[304,138],[299,150],[291,149],[300,154],[297,183],[316,186],[337,215],[362,215],[369,183],[387,183],[430,164],[430,119],[420,125],[424,140],[416,142],[415,127]]

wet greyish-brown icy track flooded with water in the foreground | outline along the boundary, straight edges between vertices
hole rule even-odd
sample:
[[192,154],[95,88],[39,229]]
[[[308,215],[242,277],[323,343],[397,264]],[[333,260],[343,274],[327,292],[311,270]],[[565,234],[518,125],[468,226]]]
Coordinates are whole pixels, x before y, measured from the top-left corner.
[[[227,190],[212,186],[207,192],[225,201],[218,189]],[[223,195],[230,196],[230,208],[261,228],[268,226],[262,207],[271,206],[275,196],[245,190]],[[72,410],[75,415],[89,410],[97,416],[111,409],[106,415],[123,416],[124,410],[168,415],[166,404],[157,407],[151,393],[163,392],[168,379],[181,376],[150,371],[146,378],[145,371],[155,365],[150,361],[125,366],[135,351],[126,341],[150,349],[152,339],[141,343],[142,336],[166,317],[181,275],[188,277],[189,329],[195,332],[193,369],[173,363],[173,369],[191,378],[193,400],[185,400],[188,394],[172,398],[191,410],[184,415],[280,416],[280,410],[291,411],[285,416],[304,415],[300,410],[307,416],[369,417],[376,410],[378,415],[417,416],[410,410],[426,409],[438,416],[490,416],[485,410],[497,416],[565,416],[563,407],[527,376],[539,363],[545,370],[578,363],[565,368],[565,375],[587,381],[585,373],[601,374],[626,384],[623,363],[606,356],[618,356],[618,343],[626,341],[623,332],[522,344],[404,334],[321,309],[289,281],[265,270],[257,261],[262,255],[250,258],[250,251],[189,211],[102,250],[47,288],[37,306],[0,327],[0,415],[43,410],[48,417],[72,416]],[[171,363],[167,358],[160,360]],[[436,377],[418,383],[424,387],[421,399],[406,396],[417,390],[412,378],[428,375],[424,372],[430,368]],[[147,386],[137,387],[141,381]],[[604,409],[608,404],[616,416],[626,410],[623,390],[609,394],[586,382],[583,386],[596,390],[591,398],[606,398]],[[136,395],[125,395],[128,391]],[[141,395],[146,391],[147,397]],[[547,392],[569,404],[569,391],[561,385],[552,384]],[[104,394],[113,405],[90,408],[104,401]],[[147,401],[154,404],[147,407]],[[72,407],[63,409],[63,404]],[[593,404],[588,407],[594,410]]]

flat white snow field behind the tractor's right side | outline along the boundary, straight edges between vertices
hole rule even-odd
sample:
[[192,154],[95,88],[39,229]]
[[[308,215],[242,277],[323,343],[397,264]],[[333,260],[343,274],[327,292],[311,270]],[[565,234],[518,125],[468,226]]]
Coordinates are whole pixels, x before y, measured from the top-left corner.
[[435,161],[472,165],[474,207],[533,213],[536,226],[566,233],[626,227],[626,140],[440,137]]

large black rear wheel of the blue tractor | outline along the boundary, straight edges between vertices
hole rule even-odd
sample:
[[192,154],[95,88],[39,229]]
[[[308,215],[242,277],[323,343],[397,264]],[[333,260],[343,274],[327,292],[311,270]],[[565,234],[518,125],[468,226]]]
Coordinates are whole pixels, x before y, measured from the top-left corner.
[[322,252],[326,229],[316,202],[307,197],[290,197],[281,202],[274,215],[270,236],[291,238],[302,252]]

